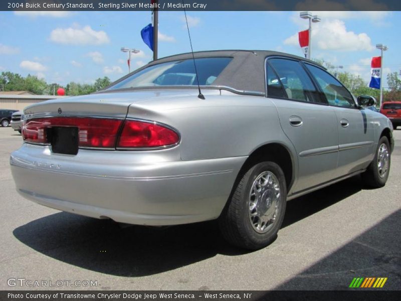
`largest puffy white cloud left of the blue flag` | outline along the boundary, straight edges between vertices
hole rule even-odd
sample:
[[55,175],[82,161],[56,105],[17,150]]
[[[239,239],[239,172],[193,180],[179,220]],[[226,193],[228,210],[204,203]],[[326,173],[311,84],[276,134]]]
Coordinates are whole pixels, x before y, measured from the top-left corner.
[[57,28],[50,33],[50,40],[69,45],[101,45],[110,42],[104,31],[95,31],[90,26],[74,25],[69,28]]

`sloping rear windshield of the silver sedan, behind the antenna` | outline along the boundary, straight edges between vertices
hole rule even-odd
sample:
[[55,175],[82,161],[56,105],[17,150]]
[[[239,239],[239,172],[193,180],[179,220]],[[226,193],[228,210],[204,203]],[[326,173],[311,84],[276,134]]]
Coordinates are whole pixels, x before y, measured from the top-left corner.
[[[233,58],[195,59],[199,85],[212,85]],[[171,61],[149,66],[116,83],[108,90],[153,87],[153,86],[194,86],[197,85],[192,59]]]

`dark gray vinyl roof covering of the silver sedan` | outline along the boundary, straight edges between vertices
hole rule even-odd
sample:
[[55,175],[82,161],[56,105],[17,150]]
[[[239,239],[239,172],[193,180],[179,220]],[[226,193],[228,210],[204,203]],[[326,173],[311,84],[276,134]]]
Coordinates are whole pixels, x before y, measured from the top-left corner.
[[[232,57],[233,60],[214,81],[213,86],[228,86],[241,91],[265,93],[265,59],[270,56],[288,57],[316,64],[311,60],[276,51],[266,50],[215,50],[194,52],[195,58]],[[192,53],[183,53],[150,62],[152,66],[169,61],[192,59]]]

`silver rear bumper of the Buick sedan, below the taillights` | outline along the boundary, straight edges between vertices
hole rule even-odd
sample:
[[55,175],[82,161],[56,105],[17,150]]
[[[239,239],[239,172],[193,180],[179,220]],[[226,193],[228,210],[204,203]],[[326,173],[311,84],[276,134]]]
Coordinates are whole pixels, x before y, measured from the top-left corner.
[[10,163],[22,196],[62,211],[153,226],[219,217],[247,158],[167,161],[172,158],[171,149],[80,149],[70,156],[24,144]]

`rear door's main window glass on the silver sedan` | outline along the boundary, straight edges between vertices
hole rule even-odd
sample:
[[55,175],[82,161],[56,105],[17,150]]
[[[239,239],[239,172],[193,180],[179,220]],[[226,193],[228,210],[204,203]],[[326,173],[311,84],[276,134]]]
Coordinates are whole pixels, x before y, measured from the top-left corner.
[[289,99],[323,102],[309,75],[298,61],[270,59],[268,62],[279,76]]

